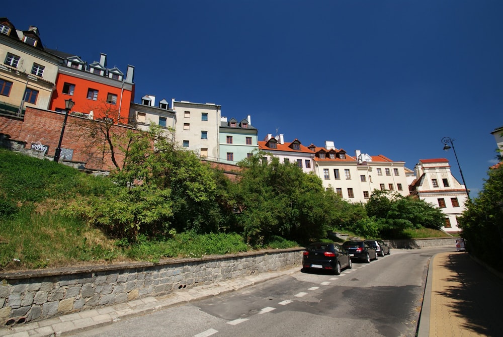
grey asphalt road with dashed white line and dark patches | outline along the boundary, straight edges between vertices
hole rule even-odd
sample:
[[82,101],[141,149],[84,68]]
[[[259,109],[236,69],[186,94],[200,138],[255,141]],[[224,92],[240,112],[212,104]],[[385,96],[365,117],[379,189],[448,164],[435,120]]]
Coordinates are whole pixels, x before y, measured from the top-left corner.
[[392,249],[340,276],[299,270],[76,336],[414,336],[428,262],[449,250]]

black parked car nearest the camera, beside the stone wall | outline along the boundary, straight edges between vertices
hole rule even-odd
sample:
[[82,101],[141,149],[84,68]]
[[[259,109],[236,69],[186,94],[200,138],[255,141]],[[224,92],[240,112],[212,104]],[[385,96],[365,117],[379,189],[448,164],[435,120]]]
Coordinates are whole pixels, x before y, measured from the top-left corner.
[[328,270],[340,275],[344,268],[352,268],[351,258],[340,244],[315,242],[304,250],[302,267],[304,270]]

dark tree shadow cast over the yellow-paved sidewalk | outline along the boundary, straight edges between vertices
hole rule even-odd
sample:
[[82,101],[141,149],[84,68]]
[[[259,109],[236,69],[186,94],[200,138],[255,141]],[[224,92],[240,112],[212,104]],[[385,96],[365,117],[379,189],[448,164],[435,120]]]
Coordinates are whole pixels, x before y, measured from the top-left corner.
[[[445,268],[457,275],[447,282],[460,282],[462,286],[448,286],[439,292],[456,299],[452,312],[466,322],[461,328],[487,336],[501,335],[503,318],[503,280],[476,263],[468,253],[451,254],[444,262]],[[460,331],[461,334],[461,331]]]

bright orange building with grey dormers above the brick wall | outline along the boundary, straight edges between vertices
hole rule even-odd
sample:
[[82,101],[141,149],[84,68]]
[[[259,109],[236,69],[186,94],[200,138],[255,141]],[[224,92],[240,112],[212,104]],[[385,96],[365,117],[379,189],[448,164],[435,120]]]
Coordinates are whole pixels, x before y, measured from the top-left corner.
[[87,64],[78,56],[51,51],[63,58],[56,77],[49,110],[64,111],[65,100],[75,102],[72,112],[90,119],[110,118],[115,124],[127,124],[129,106],[134,101],[134,67],[126,75],[118,68],[107,68],[107,55],[99,62]]

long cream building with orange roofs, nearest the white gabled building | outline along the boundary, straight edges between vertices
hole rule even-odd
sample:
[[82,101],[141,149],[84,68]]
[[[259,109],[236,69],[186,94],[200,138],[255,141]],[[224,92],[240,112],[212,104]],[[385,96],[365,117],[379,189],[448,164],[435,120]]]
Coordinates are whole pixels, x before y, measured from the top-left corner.
[[325,147],[312,144],[308,148],[315,153],[314,172],[325,189],[333,189],[349,202],[366,203],[374,190],[409,194],[403,161],[393,161],[381,154],[371,156],[360,150],[351,156],[344,149],[337,149],[333,141],[326,141]]

